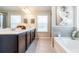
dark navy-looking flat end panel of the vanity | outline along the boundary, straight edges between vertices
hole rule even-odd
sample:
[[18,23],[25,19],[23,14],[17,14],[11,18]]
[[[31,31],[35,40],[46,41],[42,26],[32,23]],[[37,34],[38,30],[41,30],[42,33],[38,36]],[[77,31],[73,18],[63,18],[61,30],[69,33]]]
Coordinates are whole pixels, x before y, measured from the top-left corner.
[[0,53],[16,53],[17,42],[16,35],[0,35]]

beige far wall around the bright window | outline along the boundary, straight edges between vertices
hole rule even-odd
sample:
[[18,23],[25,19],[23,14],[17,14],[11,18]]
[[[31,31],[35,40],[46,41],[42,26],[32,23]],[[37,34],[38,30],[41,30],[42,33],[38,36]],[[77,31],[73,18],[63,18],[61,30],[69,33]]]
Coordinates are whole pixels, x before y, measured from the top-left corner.
[[[39,32],[37,33],[39,37],[50,37],[50,30],[51,30],[51,26],[50,26],[50,19],[51,19],[51,14],[50,11],[39,11],[37,13],[35,13],[35,15],[48,15],[48,32]],[[36,20],[37,22],[37,20]]]

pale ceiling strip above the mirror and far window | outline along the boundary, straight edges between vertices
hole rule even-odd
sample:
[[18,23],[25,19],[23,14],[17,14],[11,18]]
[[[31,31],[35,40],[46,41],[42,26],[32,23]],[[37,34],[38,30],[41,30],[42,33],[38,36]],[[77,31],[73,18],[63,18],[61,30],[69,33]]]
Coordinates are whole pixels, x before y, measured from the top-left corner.
[[50,11],[50,6],[0,6],[0,9],[7,11],[22,11],[23,8],[29,8],[32,12],[34,11]]

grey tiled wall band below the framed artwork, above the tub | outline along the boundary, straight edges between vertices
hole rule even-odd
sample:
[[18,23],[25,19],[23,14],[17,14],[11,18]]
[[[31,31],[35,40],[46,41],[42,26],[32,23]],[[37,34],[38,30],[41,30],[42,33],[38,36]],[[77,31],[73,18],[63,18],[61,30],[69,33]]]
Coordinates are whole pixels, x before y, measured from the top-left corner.
[[74,27],[53,27],[54,36],[60,34],[62,37],[71,37],[72,31],[75,30]]

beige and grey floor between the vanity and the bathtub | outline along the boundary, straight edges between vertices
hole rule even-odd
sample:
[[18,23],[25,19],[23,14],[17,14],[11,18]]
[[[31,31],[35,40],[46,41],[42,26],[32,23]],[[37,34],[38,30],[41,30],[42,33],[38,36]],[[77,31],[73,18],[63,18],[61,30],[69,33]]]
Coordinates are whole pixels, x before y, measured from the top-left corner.
[[26,53],[55,53],[50,38],[35,39]]

